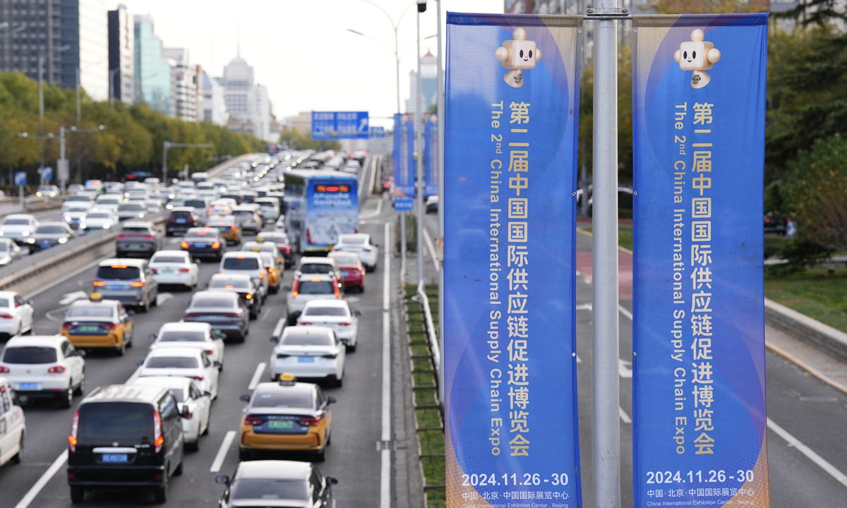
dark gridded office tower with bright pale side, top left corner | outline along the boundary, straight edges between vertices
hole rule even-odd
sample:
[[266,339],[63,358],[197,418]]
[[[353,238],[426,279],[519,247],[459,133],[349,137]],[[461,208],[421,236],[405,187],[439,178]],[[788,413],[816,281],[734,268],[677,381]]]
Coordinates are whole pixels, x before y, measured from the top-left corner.
[[[108,20],[104,0],[0,0],[0,69],[108,98]],[[13,33],[14,32],[14,33]]]

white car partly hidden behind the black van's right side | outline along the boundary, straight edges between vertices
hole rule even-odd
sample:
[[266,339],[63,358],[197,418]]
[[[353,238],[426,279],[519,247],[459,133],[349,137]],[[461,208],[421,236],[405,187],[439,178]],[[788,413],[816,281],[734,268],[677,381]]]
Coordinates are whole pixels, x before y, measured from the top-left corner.
[[131,384],[141,386],[161,386],[170,389],[176,397],[180,413],[184,406],[188,407],[191,415],[182,420],[182,439],[185,448],[189,450],[200,449],[200,436],[209,433],[209,417],[212,410],[212,400],[207,393],[203,393],[197,386],[191,383],[189,378],[177,378],[175,376],[163,376],[159,378],[136,378]]

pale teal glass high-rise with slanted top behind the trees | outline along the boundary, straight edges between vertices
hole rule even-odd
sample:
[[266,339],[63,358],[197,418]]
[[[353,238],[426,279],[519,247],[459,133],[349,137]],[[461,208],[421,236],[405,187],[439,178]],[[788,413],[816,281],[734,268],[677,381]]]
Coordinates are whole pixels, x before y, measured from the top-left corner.
[[135,102],[146,102],[150,108],[173,117],[176,106],[172,93],[172,65],[163,57],[162,41],[153,31],[148,15],[135,16]]

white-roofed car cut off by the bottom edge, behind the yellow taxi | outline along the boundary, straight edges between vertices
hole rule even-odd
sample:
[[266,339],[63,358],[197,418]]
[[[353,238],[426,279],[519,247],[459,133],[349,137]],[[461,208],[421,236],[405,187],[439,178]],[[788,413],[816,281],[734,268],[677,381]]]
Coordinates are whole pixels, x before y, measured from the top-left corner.
[[249,461],[238,464],[231,480],[219,475],[215,482],[226,485],[218,503],[220,508],[280,503],[334,508],[332,486],[338,480],[324,477],[308,462]]

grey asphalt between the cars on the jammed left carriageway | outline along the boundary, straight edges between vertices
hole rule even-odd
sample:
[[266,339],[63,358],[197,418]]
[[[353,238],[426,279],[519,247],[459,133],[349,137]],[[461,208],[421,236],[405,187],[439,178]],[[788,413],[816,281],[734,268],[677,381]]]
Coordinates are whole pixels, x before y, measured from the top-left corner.
[[[363,175],[363,176],[366,176]],[[373,216],[374,207],[367,207],[369,219],[360,230],[374,236],[380,245],[384,242],[383,222],[390,218],[390,207]],[[58,216],[58,213],[57,213]],[[268,224],[266,229],[272,228]],[[246,236],[245,240],[252,237]],[[169,238],[166,248],[178,248],[179,238]],[[230,247],[234,249],[235,247]],[[327,459],[318,465],[326,475],[339,479],[335,486],[335,499],[339,506],[374,506],[379,504],[379,460],[377,442],[380,440],[381,375],[382,362],[382,273],[367,274],[368,290],[347,296],[352,309],[362,312],[359,318],[359,345],[357,351],[347,356],[343,388],[326,388],[338,402],[334,411],[333,439]],[[65,295],[90,291],[95,268],[54,285],[33,297],[36,308],[36,334],[55,334],[61,323],[59,303]],[[201,284],[217,273],[218,263],[202,262]],[[284,285],[290,285],[291,270],[285,272]],[[185,311],[184,301],[191,292],[162,288],[159,305],[147,314],[135,316],[135,344],[123,357],[93,353],[86,356],[86,393],[97,386],[119,384],[130,378],[136,362],[147,354],[150,341],[147,337],[158,331],[163,323],[179,321]],[[244,402],[239,396],[249,393],[248,385],[261,362],[268,362],[273,345],[268,342],[280,317],[285,317],[285,291],[268,295],[263,311],[250,326],[244,344],[225,346],[224,371],[219,381],[219,396],[212,404],[209,435],[200,439],[200,450],[186,451],[184,473],[171,478],[169,500],[171,506],[217,505],[223,487],[214,483],[219,474],[232,474],[238,463],[237,431],[241,422]],[[0,343],[2,345],[2,343]],[[265,368],[261,381],[269,381]],[[75,406],[80,397],[75,398]],[[19,501],[33,488],[47,469],[67,449],[67,436],[75,406],[59,409],[52,401],[34,401],[25,406],[27,424],[23,461],[19,465],[7,464],[0,469],[0,508],[24,508]],[[236,439],[225,449],[225,458],[219,472],[210,468],[219,455],[228,431],[236,431]],[[309,460],[308,456],[268,455],[257,458]],[[86,493],[86,505],[124,506],[152,504],[152,494],[145,491],[94,491]],[[69,488],[64,464],[46,478],[43,488],[31,500],[30,506],[70,506]]]

